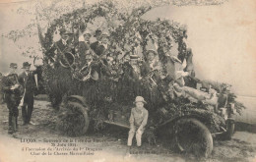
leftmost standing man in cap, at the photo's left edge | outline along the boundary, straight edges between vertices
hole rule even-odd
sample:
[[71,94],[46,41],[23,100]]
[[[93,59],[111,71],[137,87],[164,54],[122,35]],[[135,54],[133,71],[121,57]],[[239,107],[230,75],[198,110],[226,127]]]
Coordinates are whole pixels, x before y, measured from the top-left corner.
[[17,64],[11,63],[11,72],[3,78],[2,88],[5,93],[5,102],[9,109],[9,129],[8,134],[14,134],[18,129],[18,106],[21,101],[21,86],[16,73]]

